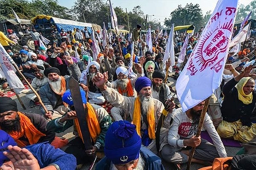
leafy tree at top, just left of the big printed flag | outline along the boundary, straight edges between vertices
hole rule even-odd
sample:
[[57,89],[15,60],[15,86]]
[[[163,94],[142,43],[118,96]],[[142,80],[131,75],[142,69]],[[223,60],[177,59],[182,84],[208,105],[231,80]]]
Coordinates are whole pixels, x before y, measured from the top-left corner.
[[178,5],[178,8],[171,12],[170,18],[165,18],[165,26],[171,26],[174,23],[175,26],[183,26],[193,24],[198,30],[201,26],[203,20],[202,9],[200,9],[199,4],[188,4],[182,8]]

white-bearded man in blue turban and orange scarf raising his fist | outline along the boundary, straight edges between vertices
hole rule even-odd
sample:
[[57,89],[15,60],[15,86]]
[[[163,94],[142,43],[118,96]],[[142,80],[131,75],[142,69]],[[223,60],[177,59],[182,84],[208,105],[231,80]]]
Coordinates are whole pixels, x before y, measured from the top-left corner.
[[142,144],[157,153],[155,142],[156,125],[162,113],[164,115],[172,113],[175,106],[174,102],[168,101],[165,107],[162,102],[152,98],[152,82],[147,77],[140,77],[135,81],[135,90],[138,97],[123,96],[115,89],[107,87],[105,84],[107,81],[106,73],[98,72],[92,81],[103,92],[109,103],[129,112],[133,124],[136,125],[138,135],[141,135]]

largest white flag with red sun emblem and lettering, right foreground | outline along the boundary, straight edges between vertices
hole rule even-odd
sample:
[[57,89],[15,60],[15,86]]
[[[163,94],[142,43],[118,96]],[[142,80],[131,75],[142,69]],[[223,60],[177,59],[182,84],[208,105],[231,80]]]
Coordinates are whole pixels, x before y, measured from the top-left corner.
[[222,80],[237,13],[238,0],[219,0],[177,79],[183,112],[208,98]]

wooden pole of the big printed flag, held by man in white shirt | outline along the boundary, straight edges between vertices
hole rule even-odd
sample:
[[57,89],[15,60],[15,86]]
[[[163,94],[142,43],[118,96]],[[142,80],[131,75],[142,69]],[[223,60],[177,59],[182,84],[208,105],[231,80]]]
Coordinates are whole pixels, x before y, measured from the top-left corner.
[[[202,113],[201,113],[201,116],[200,116],[199,124],[198,124],[198,130],[197,130],[196,137],[199,137],[200,134],[201,134],[201,131],[202,131],[202,128],[203,128],[203,121],[204,121],[204,118],[205,118],[205,115],[206,115],[206,111],[208,109],[210,97],[206,98],[206,100],[205,100],[205,104],[204,104],[204,107],[203,107],[203,110],[202,110]],[[194,156],[194,151],[195,150],[196,150],[196,147],[193,147],[191,149],[189,159],[188,159],[188,164],[187,164],[187,170],[190,170],[190,165],[191,165],[191,161],[192,161],[192,158]]]

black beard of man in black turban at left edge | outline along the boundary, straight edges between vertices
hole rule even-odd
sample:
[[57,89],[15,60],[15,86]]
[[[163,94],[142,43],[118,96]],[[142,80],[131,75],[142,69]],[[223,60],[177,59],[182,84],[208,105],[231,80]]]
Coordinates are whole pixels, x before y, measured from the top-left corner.
[[2,123],[0,123],[0,127],[3,131],[6,131],[6,133],[20,132],[21,131],[20,117],[17,116],[17,118],[13,120],[3,121]]

